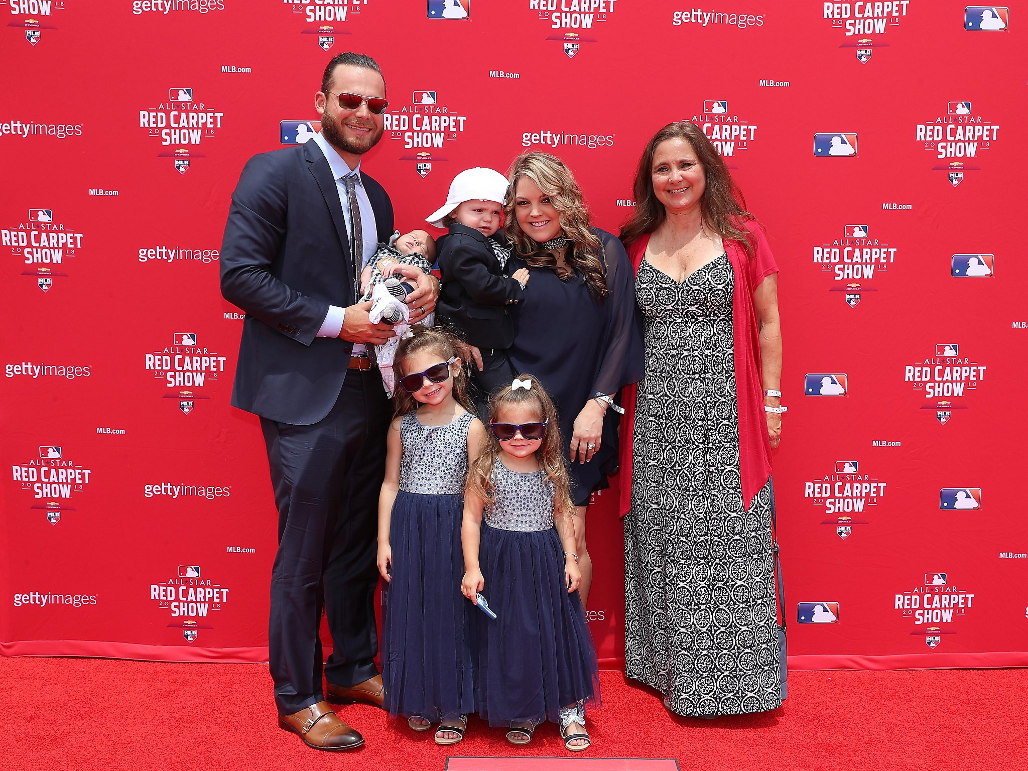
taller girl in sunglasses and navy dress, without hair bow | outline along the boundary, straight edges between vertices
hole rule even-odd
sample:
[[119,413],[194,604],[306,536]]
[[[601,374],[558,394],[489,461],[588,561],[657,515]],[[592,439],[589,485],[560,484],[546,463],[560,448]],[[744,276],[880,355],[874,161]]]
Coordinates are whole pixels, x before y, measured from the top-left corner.
[[468,399],[456,340],[440,328],[408,335],[396,353],[397,416],[378,503],[383,706],[413,731],[439,723],[436,743],[455,744],[475,706],[462,493],[485,427]]

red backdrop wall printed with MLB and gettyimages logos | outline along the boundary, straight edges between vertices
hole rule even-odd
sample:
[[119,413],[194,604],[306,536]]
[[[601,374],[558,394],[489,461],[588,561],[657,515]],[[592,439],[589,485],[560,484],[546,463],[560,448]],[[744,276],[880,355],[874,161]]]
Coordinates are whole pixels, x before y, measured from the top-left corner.
[[[0,0],[0,652],[266,658],[276,512],[218,254],[244,162],[318,131],[352,49],[386,73],[364,162],[402,228],[545,149],[616,231],[646,140],[701,123],[781,265],[793,664],[1028,664],[1025,10]],[[614,498],[588,520],[611,666]]]

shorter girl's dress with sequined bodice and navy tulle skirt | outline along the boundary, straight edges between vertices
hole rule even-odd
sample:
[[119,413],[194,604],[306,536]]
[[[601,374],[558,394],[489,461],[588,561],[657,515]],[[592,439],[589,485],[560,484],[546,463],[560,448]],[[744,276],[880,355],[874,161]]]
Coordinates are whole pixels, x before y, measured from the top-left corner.
[[559,723],[561,707],[598,705],[599,680],[582,602],[564,586],[553,483],[499,457],[491,481],[497,500],[485,511],[479,564],[497,618],[473,609],[476,706],[493,727]]

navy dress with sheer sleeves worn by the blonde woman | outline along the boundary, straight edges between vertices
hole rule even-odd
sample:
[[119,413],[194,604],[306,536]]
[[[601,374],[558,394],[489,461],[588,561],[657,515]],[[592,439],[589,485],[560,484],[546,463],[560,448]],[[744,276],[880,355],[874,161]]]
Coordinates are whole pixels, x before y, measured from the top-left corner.
[[[605,299],[596,300],[578,271],[561,281],[550,268],[529,267],[524,299],[511,310],[511,363],[515,372],[538,377],[556,403],[565,461],[572,427],[585,403],[597,392],[616,394],[642,377],[642,328],[631,262],[614,235],[599,228],[592,231],[603,246],[600,262],[610,290]],[[521,267],[528,266],[520,256],[512,256],[507,272]],[[568,463],[576,506],[585,506],[594,489],[607,487],[607,475],[618,462],[618,419],[609,409],[599,450],[586,464]]]

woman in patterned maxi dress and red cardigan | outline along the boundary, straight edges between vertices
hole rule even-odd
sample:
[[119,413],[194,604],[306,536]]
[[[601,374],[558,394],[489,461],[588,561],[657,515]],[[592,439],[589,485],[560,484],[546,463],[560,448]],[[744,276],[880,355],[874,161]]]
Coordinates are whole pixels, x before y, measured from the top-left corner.
[[626,673],[696,718],[781,703],[770,481],[781,413],[763,409],[780,409],[777,266],[736,195],[702,132],[671,123],[644,152],[622,231],[646,351],[623,424]]

